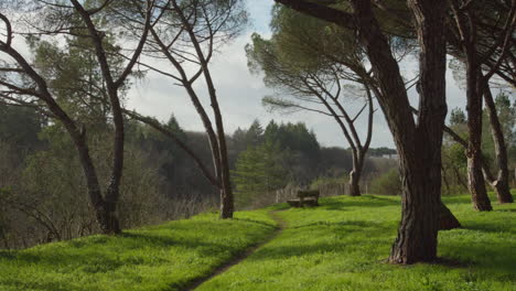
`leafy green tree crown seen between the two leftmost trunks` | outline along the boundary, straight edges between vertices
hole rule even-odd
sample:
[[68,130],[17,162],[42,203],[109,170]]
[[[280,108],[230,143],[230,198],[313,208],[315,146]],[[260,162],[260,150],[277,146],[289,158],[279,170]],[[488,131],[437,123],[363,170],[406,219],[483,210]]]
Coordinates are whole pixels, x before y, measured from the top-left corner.
[[[92,4],[92,1],[87,1]],[[63,42],[30,37],[29,44],[34,55],[34,66],[49,84],[49,89],[68,116],[88,127],[105,126],[109,121],[110,101],[105,86],[95,46],[80,18],[73,13],[68,20],[76,26],[76,35],[68,35]],[[117,37],[107,30],[104,19],[95,20],[97,29],[106,29],[103,39],[107,62],[116,78],[121,74],[126,60],[116,45]],[[130,87],[129,82],[118,90],[123,97]]]

